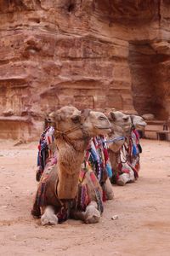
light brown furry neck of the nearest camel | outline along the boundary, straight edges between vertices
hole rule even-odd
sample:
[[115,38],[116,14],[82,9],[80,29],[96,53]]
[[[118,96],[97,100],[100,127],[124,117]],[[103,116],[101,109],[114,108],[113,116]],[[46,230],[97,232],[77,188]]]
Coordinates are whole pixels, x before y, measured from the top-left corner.
[[74,199],[77,195],[79,172],[88,141],[74,141],[73,143],[74,148],[61,139],[57,141],[59,148],[57,193],[59,199]]

